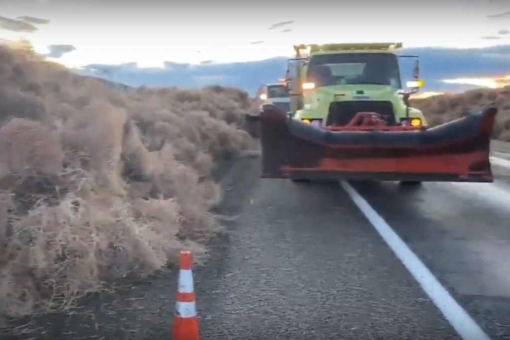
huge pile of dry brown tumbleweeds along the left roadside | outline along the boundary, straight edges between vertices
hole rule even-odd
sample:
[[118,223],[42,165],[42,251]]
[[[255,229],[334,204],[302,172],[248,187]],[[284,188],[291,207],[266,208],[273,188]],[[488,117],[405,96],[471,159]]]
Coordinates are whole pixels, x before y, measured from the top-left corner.
[[211,173],[249,152],[236,89],[118,89],[0,46],[0,322],[149,275],[219,226]]

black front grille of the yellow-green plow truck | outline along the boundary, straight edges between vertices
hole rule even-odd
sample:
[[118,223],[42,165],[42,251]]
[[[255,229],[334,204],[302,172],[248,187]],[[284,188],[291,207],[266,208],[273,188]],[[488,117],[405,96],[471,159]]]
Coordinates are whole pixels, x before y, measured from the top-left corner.
[[395,115],[391,101],[356,100],[337,101],[329,105],[326,126],[344,126],[358,112],[375,112],[391,126],[395,125]]

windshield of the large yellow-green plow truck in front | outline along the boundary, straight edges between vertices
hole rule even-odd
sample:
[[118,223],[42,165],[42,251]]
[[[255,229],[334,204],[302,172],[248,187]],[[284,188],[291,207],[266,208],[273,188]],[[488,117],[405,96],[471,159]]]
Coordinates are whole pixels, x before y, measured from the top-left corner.
[[345,84],[401,88],[397,56],[389,53],[342,53],[310,58],[308,82],[316,87]]

